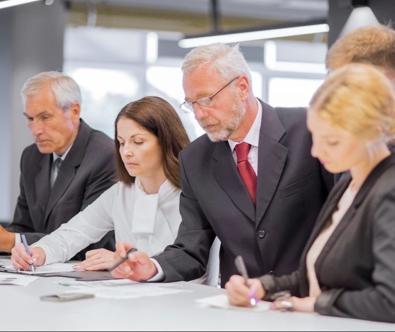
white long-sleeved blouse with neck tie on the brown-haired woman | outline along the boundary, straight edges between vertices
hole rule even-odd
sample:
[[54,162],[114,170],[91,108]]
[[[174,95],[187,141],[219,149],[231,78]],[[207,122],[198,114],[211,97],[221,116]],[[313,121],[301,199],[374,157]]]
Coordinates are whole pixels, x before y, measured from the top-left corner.
[[132,243],[148,256],[162,252],[174,242],[181,223],[181,189],[168,180],[157,194],[148,195],[139,178],[131,185],[118,182],[82,212],[32,247],[42,247],[45,264],[65,262],[107,232],[115,240]]

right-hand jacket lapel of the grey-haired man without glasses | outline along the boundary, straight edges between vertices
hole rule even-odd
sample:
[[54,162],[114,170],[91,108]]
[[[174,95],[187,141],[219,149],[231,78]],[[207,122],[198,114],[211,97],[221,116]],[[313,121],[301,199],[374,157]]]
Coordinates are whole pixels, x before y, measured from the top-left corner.
[[85,148],[88,144],[90,132],[90,127],[81,120],[77,137],[59,169],[58,176],[50,192],[47,209],[45,212],[45,221],[47,221],[53,207],[56,205],[59,199],[61,199],[71,181],[74,179],[77,169],[82,162]]

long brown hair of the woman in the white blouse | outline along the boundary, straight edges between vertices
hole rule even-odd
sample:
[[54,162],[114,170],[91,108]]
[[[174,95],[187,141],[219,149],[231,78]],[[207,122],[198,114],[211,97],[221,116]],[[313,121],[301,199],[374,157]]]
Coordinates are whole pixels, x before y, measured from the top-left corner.
[[121,118],[137,122],[149,133],[158,137],[163,155],[163,169],[166,178],[180,188],[178,154],[189,144],[189,138],[177,112],[166,100],[159,97],[144,97],[125,105],[115,119],[116,172],[123,183],[134,183],[135,177],[126,170],[119,153],[116,125]]

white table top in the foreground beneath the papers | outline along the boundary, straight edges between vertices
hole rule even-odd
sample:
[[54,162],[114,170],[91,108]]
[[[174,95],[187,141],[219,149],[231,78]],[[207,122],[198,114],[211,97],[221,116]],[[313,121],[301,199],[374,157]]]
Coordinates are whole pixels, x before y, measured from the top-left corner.
[[[1,259],[2,261],[8,261]],[[8,263],[8,262],[7,262]],[[1,273],[4,274],[4,273]],[[39,277],[26,287],[0,285],[1,331],[395,331],[395,324],[291,312],[201,308],[194,300],[225,290],[175,282],[191,290],[138,299],[40,300],[61,292],[62,277]],[[394,313],[395,315],[395,313]]]

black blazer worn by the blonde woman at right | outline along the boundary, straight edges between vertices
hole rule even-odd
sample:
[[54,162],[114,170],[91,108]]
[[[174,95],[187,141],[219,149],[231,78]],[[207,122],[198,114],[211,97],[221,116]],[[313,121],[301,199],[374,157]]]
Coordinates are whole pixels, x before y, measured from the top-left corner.
[[[322,315],[395,322],[395,155],[383,160],[362,184],[315,263]],[[309,296],[306,255],[345,192],[348,175],[333,188],[292,275],[261,281],[270,294],[291,290]]]

